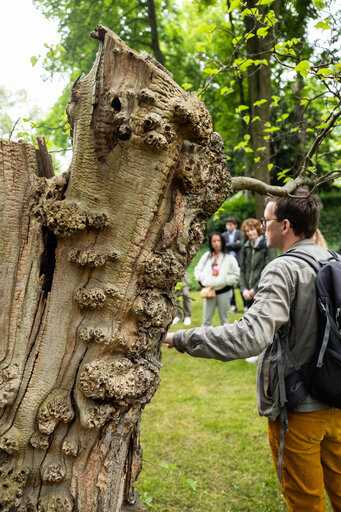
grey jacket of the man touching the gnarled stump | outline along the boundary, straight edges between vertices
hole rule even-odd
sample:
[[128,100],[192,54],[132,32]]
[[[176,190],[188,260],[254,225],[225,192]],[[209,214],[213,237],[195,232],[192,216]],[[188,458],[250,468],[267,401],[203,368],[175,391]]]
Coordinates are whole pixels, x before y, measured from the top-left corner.
[[[296,242],[288,252],[295,249],[316,259],[331,257],[311,240]],[[221,361],[261,354],[257,375],[258,412],[275,419],[279,407],[274,335],[280,330],[296,361],[304,365],[312,359],[316,349],[317,318],[315,272],[305,261],[288,256],[276,258],[265,267],[254,304],[239,321],[178,331],[173,342],[180,352]],[[292,369],[288,362],[286,373]],[[310,412],[326,407],[308,396],[296,410]]]

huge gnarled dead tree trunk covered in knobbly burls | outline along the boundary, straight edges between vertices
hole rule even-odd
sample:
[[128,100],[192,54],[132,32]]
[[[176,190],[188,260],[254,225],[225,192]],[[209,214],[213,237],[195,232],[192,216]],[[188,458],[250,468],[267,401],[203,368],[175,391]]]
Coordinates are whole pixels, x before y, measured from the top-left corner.
[[[0,510],[141,510],[173,289],[229,195],[198,98],[113,32],[71,89],[68,173],[1,143]],[[48,174],[45,174],[48,176]]]

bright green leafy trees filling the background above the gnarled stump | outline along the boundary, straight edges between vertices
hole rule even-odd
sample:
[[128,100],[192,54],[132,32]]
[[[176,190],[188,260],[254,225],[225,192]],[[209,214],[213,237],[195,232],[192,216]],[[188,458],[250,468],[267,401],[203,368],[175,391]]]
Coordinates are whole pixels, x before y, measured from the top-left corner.
[[[229,170],[239,178],[235,190],[264,193],[255,178],[284,185],[287,192],[294,178],[314,186],[339,171],[336,1],[34,3],[59,25],[60,43],[46,45],[41,57],[52,76],[68,73],[73,82],[89,71],[96,52],[89,34],[102,23],[134,49],[152,54],[175,81],[197,93],[225,140]],[[67,89],[38,130],[57,149],[70,144],[64,112],[68,95]]]

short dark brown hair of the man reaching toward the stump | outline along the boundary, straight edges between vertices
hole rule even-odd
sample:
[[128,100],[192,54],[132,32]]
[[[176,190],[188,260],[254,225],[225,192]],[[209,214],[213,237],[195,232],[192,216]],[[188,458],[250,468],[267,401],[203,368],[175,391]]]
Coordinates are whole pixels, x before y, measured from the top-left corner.
[[296,236],[311,238],[317,230],[322,203],[306,187],[298,187],[293,197],[268,197],[267,203],[274,202],[277,220],[288,219]]

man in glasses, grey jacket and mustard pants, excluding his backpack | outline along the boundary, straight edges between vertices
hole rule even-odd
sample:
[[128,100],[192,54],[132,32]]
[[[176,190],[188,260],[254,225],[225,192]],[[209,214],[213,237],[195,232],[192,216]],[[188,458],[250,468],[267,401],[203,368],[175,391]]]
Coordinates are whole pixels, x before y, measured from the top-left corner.
[[[261,275],[251,308],[233,324],[168,333],[165,343],[194,357],[221,361],[261,354],[258,362],[258,412],[268,418],[275,463],[280,454],[280,407],[277,381],[279,333],[300,366],[313,359],[317,346],[318,312],[315,272],[292,251],[317,260],[330,254],[314,244],[321,203],[301,187],[292,197],[270,197],[262,224],[269,247],[289,253],[270,262]],[[285,374],[293,367],[285,362]],[[326,489],[333,510],[341,511],[341,410],[307,395],[288,413],[281,461],[281,491],[294,512],[325,512]]]

